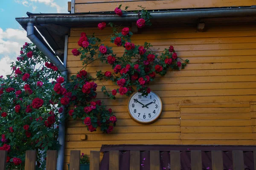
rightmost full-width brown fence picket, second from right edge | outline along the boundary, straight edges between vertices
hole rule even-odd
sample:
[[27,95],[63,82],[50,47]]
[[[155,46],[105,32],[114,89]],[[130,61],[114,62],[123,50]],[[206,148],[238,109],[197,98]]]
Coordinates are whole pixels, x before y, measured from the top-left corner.
[[244,170],[244,152],[242,150],[233,150],[233,170]]

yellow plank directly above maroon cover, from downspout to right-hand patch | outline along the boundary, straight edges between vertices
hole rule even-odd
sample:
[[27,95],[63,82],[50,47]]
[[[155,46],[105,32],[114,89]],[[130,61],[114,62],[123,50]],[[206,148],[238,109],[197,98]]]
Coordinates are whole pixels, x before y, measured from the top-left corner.
[[101,147],[102,144],[180,144],[180,139],[65,142],[66,148]]

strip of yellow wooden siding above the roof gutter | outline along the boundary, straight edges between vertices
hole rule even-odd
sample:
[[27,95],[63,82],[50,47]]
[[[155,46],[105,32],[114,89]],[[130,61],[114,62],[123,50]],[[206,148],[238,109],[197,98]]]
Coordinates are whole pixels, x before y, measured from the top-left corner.
[[140,10],[138,6],[143,6],[147,10],[158,10],[256,5],[255,0],[76,0],[75,3],[75,13],[114,11],[121,4],[122,9],[130,6],[128,10],[131,11]]

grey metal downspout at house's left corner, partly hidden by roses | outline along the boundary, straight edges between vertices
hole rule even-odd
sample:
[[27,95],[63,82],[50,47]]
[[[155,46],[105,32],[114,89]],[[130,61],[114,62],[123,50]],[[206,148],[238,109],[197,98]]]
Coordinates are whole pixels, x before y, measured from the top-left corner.
[[[27,37],[31,42],[33,42],[36,47],[42,51],[42,53],[50,59],[50,61],[61,71],[61,74],[64,77],[67,77],[67,68],[62,65],[62,63],[48,50],[48,48],[38,39],[38,37],[34,34],[34,24],[31,22],[27,23]],[[58,160],[57,160],[57,170],[63,170],[64,166],[64,151],[65,151],[65,121],[63,121],[65,115],[65,107],[63,108],[63,113],[60,114],[59,117],[59,134],[58,134],[58,142],[61,145],[58,150]]]

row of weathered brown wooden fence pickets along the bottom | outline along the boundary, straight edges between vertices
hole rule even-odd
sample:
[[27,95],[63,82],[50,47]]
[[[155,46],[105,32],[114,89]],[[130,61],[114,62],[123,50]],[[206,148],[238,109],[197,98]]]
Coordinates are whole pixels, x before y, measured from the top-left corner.
[[[254,167],[256,167],[256,151],[254,154]],[[0,150],[0,170],[5,170],[7,153]],[[241,150],[233,150],[233,170],[244,170],[244,154]],[[35,170],[36,151],[26,151],[25,170]],[[180,151],[170,151],[171,170],[180,170]],[[90,152],[90,170],[99,170],[99,151]],[[80,150],[70,151],[70,170],[79,170]],[[46,170],[56,170],[57,151],[48,150]],[[202,157],[200,150],[191,151],[192,170],[202,170]],[[109,155],[109,170],[119,170],[119,151],[111,150]],[[130,152],[130,170],[140,170],[140,151]],[[160,170],[160,151],[150,151],[150,170]],[[212,151],[212,170],[223,170],[222,151]]]

